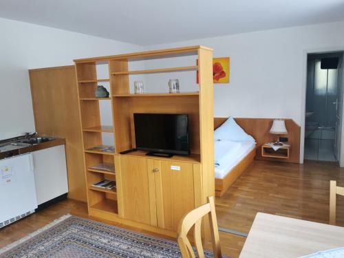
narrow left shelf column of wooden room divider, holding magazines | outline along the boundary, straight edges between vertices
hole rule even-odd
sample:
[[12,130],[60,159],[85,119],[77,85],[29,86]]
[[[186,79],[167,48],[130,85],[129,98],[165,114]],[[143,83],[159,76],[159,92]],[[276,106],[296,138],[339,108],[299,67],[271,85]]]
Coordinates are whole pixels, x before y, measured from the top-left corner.
[[95,96],[98,82],[109,82],[109,79],[97,78],[96,65],[96,62],[92,62],[76,64],[75,66],[78,82],[80,124],[83,131],[83,148],[85,150],[87,200],[90,210],[96,210],[97,213],[114,213],[116,215],[118,211],[116,189],[107,190],[92,186],[92,184],[104,179],[116,181],[115,173],[89,169],[102,162],[114,164],[114,153],[89,150],[92,147],[103,145],[102,133],[114,133],[113,123],[111,126],[100,124],[99,101],[111,100],[112,98],[96,98]]

